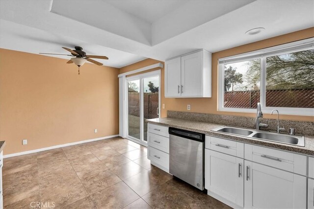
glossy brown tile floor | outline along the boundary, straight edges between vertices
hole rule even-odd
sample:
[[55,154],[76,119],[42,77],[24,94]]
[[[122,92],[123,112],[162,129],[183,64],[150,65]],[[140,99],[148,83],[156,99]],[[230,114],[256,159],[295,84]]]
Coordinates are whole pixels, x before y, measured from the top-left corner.
[[122,138],[4,159],[3,194],[4,209],[229,208],[151,165],[146,147]]

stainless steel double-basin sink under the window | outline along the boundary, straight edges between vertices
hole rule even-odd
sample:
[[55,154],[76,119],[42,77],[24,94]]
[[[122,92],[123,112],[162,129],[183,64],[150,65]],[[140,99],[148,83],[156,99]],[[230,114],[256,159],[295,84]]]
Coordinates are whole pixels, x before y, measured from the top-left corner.
[[236,128],[230,126],[222,126],[215,128],[212,131],[233,134],[236,136],[247,137],[252,139],[262,139],[267,141],[274,141],[278,143],[291,144],[295,146],[304,146],[304,136],[301,135],[288,135],[282,133],[274,133],[267,131],[257,131],[246,128]]

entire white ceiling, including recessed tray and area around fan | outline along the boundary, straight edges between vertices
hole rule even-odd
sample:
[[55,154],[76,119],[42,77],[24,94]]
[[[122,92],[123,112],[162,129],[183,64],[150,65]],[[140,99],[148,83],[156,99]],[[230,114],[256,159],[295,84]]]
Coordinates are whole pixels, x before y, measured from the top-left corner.
[[[147,57],[216,52],[313,27],[314,1],[1,0],[0,21],[2,48],[64,53],[61,46],[82,46],[121,68]],[[266,30],[244,34],[255,27]]]

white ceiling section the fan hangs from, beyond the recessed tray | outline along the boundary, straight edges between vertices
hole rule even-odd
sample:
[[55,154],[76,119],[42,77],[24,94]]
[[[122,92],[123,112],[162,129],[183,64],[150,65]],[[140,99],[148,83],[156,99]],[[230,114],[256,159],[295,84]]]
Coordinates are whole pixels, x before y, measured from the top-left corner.
[[[74,49],[74,46],[81,46],[83,51],[89,55],[104,55],[109,58],[109,60],[94,59],[105,66],[122,68],[131,63],[138,62],[146,59],[145,57],[131,54],[129,52],[100,46],[92,43],[86,43],[79,39],[74,39],[72,37],[60,36],[51,32],[44,30],[39,30],[33,27],[27,27],[25,25],[0,20],[0,47],[8,48],[17,51],[26,51],[34,54],[39,52],[43,53],[61,53],[70,54],[61,46]],[[5,30],[2,30],[5,28]],[[21,33],[23,31],[23,33]],[[43,55],[50,56],[50,55]],[[51,55],[53,57],[59,57],[69,60],[71,57],[62,55]],[[66,63],[67,60],[64,62]]]

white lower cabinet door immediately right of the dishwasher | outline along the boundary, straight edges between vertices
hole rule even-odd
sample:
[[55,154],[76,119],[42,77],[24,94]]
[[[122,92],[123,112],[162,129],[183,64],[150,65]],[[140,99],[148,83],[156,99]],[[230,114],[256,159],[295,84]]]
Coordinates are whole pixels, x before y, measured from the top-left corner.
[[205,149],[205,188],[243,207],[244,160]]

